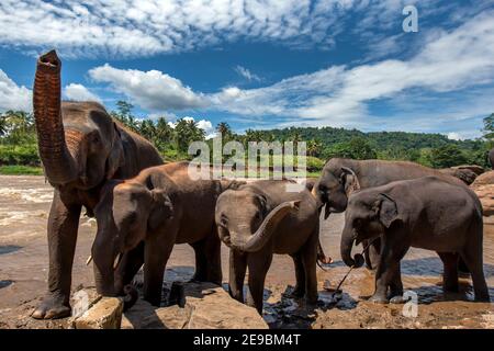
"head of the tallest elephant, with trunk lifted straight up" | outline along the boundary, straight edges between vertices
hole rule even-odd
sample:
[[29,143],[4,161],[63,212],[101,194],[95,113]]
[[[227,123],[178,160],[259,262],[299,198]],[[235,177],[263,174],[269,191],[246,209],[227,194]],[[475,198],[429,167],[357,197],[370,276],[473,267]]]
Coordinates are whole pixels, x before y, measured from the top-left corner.
[[55,50],[37,60],[33,107],[40,157],[48,181],[90,189],[123,162],[117,125],[97,102],[60,102],[61,61]]

